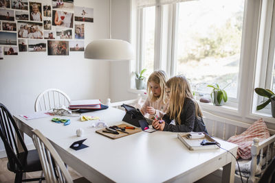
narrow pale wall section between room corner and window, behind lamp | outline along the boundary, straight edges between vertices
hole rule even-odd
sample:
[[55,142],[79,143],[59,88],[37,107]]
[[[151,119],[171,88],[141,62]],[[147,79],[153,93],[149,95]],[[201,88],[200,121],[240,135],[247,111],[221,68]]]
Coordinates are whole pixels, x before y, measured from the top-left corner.
[[[132,43],[131,40],[131,1],[115,0],[112,1],[112,38],[122,39]],[[131,60],[130,62],[135,62]],[[110,97],[111,101],[123,101],[135,99],[134,93],[129,93],[130,79],[133,73],[130,72],[130,62],[120,61],[111,62],[110,65]],[[133,64],[132,64],[133,65]]]

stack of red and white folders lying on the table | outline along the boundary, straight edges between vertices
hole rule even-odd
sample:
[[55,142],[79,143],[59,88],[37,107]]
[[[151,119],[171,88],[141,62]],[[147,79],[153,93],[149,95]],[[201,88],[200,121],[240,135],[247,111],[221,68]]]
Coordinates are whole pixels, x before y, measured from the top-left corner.
[[99,99],[75,100],[69,103],[69,109],[101,109]]

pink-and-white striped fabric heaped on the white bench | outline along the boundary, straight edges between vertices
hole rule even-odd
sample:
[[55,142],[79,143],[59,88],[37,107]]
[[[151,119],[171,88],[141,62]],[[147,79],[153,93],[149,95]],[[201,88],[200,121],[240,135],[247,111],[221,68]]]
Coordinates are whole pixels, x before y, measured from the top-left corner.
[[239,145],[237,158],[241,157],[245,160],[251,158],[251,146],[255,137],[259,138],[260,142],[270,137],[270,132],[263,119],[255,121],[245,132],[228,139],[228,142]]

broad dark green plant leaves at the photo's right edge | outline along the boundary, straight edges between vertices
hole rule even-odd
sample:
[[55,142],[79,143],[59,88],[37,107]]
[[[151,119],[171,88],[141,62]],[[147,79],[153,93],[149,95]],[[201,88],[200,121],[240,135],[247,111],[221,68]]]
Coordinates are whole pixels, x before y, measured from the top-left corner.
[[275,118],[275,94],[274,94],[274,92],[272,92],[272,90],[265,89],[265,88],[255,88],[255,92],[256,92],[256,94],[258,94],[262,97],[268,98],[267,101],[265,101],[261,105],[257,106],[256,109],[261,110],[261,109],[265,108],[265,106],[267,106],[268,103],[270,103],[270,101],[271,101],[271,113],[272,113],[272,117]]

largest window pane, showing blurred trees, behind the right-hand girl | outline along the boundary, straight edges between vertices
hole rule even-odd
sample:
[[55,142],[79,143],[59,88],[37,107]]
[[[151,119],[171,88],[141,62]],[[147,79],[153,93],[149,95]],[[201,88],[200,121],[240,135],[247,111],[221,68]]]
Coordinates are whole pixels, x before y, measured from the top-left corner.
[[193,89],[210,93],[206,84],[230,84],[225,90],[236,98],[243,10],[244,0],[179,3],[177,74]]

